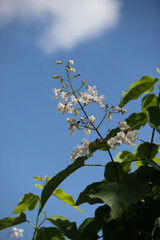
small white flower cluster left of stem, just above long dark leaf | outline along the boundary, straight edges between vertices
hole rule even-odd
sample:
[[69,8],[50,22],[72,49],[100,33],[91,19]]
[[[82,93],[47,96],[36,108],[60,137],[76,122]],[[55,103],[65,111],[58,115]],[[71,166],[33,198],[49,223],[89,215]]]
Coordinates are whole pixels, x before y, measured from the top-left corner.
[[82,157],[87,154],[87,156],[91,156],[91,152],[89,151],[89,144],[90,142],[88,139],[83,138],[82,139],[82,145],[77,145],[75,149],[72,150],[72,153],[69,155],[69,158],[71,159],[72,162],[76,160],[79,156]]

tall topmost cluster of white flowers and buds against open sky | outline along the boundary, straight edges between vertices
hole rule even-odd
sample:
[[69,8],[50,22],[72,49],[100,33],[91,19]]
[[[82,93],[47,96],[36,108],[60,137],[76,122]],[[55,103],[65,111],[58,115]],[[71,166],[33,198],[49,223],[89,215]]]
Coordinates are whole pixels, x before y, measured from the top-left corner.
[[[57,65],[61,65],[62,61],[57,61]],[[69,60],[68,64],[65,66],[66,73],[69,76],[69,72],[73,73],[75,72],[74,68],[71,68],[70,65],[73,65],[74,61]],[[77,76],[80,76],[80,74],[75,75],[74,77],[76,78]],[[105,108],[105,106],[102,103],[102,100],[104,99],[104,95],[98,96],[96,86],[86,86],[87,91],[81,92],[80,90],[85,87],[85,82],[82,80],[82,85],[79,88],[79,91],[77,90],[76,92],[68,90],[68,86],[70,85],[70,80],[64,80],[62,76],[59,75],[54,75],[54,79],[60,78],[60,83],[63,83],[64,81],[67,81],[67,84],[62,86],[62,88],[53,88],[54,96],[52,96],[53,99],[58,99],[60,98],[60,101],[57,105],[57,112],[61,114],[65,113],[71,113],[74,114],[74,116],[77,116],[79,114],[77,107],[75,106],[77,103],[79,105],[82,105],[83,107],[85,105],[89,105],[93,102],[97,103],[100,108]],[[72,88],[72,87],[71,87]],[[91,133],[91,125],[95,123],[95,117],[92,115],[88,118],[82,118],[80,117],[80,120],[76,121],[73,118],[67,118],[66,119],[68,125],[69,134],[73,135],[76,129],[84,129],[85,134],[88,136]]]

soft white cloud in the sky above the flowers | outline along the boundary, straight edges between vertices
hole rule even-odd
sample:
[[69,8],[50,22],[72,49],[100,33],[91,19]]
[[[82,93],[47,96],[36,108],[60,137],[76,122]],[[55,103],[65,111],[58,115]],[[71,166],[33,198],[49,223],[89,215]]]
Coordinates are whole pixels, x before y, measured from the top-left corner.
[[120,0],[0,0],[0,27],[18,19],[42,25],[37,43],[46,52],[71,49],[116,26]]

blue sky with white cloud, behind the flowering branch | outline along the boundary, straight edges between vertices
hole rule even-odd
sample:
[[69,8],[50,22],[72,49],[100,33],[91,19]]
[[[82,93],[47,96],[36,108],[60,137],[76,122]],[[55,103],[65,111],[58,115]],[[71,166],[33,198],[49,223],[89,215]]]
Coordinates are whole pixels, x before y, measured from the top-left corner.
[[[144,75],[159,77],[159,12],[159,0],[0,2],[0,218],[11,216],[26,192],[40,194],[32,176],[54,176],[64,169],[85,137],[83,132],[68,134],[67,116],[57,113],[58,101],[51,99],[52,88],[59,86],[52,76],[61,71],[56,60],[73,59],[79,80],[96,85],[104,102],[118,105],[121,91],[132,82]],[[117,121],[140,111],[137,101],[126,108],[126,116],[104,123],[103,136]],[[97,108],[92,110],[99,117]],[[90,141],[95,138],[94,133],[89,136]],[[97,152],[89,162],[105,164],[107,159],[106,152]],[[87,184],[103,178],[103,170],[82,168],[60,187],[76,199]],[[91,206],[80,208],[86,215],[52,198],[45,210],[47,216],[64,215],[80,224],[93,216]],[[36,213],[27,212],[33,223]],[[24,240],[31,239],[32,228],[20,227]]]

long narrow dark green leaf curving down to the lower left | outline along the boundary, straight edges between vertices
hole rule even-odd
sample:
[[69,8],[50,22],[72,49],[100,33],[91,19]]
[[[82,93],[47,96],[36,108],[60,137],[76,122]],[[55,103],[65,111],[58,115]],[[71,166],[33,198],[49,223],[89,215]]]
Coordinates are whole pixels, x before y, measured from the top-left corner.
[[88,159],[88,157],[79,157],[77,158],[74,163],[69,165],[66,169],[59,172],[57,175],[52,177],[47,184],[44,186],[42,194],[41,194],[41,202],[40,202],[40,209],[39,213],[42,211],[45,203],[52,195],[54,190],[58,187],[58,185],[63,182],[65,178],[67,178],[70,174],[76,171],[78,168],[84,166],[84,161]]

